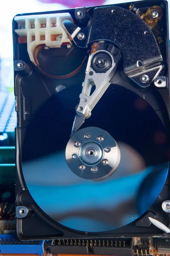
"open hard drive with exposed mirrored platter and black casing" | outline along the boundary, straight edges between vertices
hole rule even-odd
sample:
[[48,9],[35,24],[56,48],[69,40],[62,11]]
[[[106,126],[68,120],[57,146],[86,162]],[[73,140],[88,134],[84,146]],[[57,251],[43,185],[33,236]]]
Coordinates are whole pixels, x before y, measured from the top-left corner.
[[144,0],[14,17],[20,239],[170,254],[167,13]]

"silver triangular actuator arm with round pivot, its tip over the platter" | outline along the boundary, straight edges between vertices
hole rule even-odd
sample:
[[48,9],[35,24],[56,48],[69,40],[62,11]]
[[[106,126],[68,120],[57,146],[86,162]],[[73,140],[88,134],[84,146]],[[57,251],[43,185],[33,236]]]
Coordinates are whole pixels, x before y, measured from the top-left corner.
[[[94,43],[94,46],[97,44]],[[111,84],[111,78],[116,72],[117,63],[121,58],[120,52],[116,52],[112,46],[110,52],[92,47],[88,58],[85,81],[82,83],[82,93],[79,104],[76,107],[71,136],[80,128],[85,119],[91,116],[91,111]],[[93,52],[94,51],[94,52]],[[113,52],[116,52],[116,62]]]

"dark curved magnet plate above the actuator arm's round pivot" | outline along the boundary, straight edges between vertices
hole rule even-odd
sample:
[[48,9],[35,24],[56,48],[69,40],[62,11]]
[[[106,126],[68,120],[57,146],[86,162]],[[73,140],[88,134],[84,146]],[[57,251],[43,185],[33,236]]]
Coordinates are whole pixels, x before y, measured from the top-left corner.
[[[146,88],[157,76],[164,75],[163,59],[153,32],[139,16],[127,9],[118,6],[95,8],[90,29],[81,29],[70,20],[64,20],[63,25],[78,47],[87,47],[96,41],[116,44],[124,58],[125,74],[140,87]],[[85,40],[79,40],[78,33],[84,33]],[[143,79],[145,77],[147,80]]]

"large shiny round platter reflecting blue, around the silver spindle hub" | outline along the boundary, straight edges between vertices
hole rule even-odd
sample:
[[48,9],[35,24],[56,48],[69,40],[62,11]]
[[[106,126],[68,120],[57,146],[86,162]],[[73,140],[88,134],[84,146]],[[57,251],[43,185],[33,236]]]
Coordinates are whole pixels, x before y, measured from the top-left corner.
[[95,173],[94,180],[75,174],[65,150],[81,91],[82,84],[67,87],[34,114],[23,140],[23,177],[37,205],[59,224],[104,232],[131,223],[154,203],[167,177],[169,146],[153,108],[131,90],[111,84],[77,133],[106,131],[119,146],[120,163],[101,180]]

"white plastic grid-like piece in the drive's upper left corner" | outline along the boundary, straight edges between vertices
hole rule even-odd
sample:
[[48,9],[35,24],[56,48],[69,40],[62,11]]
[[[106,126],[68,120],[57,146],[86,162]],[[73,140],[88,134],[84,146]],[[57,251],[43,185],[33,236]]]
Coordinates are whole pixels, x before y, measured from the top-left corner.
[[33,53],[37,45],[45,44],[47,47],[56,48],[66,43],[67,47],[71,47],[69,35],[62,25],[62,21],[65,19],[74,22],[67,12],[14,17],[18,23],[18,29],[15,29],[15,32],[20,37],[27,37],[28,54],[35,65]]

